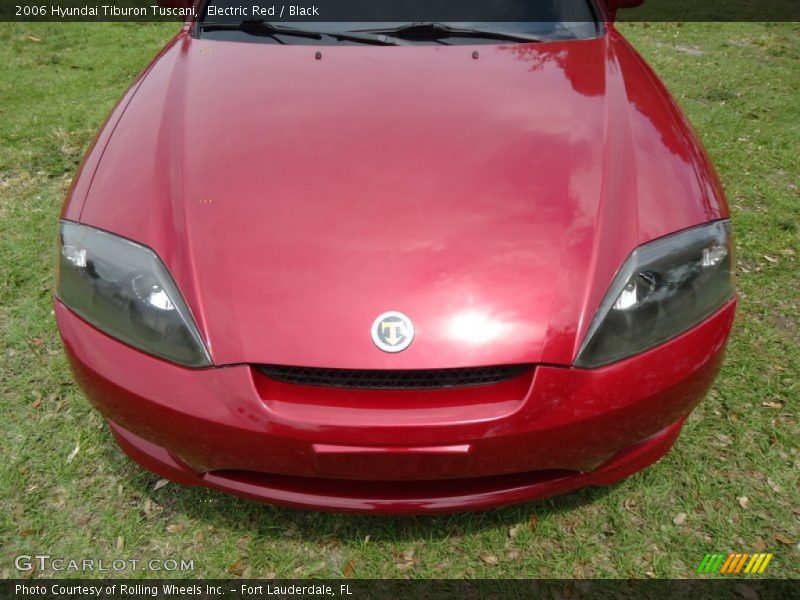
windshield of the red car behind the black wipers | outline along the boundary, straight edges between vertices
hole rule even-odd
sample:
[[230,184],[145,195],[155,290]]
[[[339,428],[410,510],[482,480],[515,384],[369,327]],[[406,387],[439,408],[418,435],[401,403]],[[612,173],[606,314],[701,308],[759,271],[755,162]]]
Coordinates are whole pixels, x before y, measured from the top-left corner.
[[[237,28],[237,24],[253,21],[321,35],[303,37],[252,26]],[[402,42],[393,36],[394,30],[402,31],[420,23],[460,29],[462,34],[402,35]],[[472,31],[463,35],[463,30]],[[547,41],[592,38],[600,31],[591,0],[317,0],[306,6],[269,2],[259,5],[257,0],[209,0],[196,35],[232,41],[327,45],[359,43],[352,37],[336,38],[328,34],[380,32],[403,45],[455,45],[498,43],[497,37],[482,37],[481,32],[519,34]],[[503,43],[513,41],[505,39]]]

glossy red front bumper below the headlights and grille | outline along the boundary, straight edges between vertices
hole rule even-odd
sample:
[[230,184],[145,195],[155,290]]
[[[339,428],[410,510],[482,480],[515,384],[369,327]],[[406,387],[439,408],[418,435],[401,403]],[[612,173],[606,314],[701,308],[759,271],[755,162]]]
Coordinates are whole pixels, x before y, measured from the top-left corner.
[[600,369],[537,366],[446,392],[319,390],[249,366],[178,367],[56,301],[78,382],[146,468],[288,506],[457,511],[608,484],[660,458],[714,379],[734,303]]

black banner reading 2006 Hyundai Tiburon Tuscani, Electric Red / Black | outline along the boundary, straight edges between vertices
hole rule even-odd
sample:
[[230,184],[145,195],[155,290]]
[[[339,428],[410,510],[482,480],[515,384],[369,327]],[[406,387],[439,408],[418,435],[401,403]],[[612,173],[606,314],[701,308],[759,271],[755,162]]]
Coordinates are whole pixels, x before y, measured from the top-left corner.
[[[581,22],[619,0],[3,0],[0,21]],[[188,6],[187,6],[188,4]],[[620,21],[800,22],[800,0],[644,0]]]

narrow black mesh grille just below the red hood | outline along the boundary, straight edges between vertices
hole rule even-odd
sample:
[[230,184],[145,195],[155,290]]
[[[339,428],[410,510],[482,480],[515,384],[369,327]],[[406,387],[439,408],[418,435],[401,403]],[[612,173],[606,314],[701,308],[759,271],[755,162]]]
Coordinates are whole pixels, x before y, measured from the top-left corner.
[[299,385],[369,390],[421,390],[491,385],[518,377],[531,365],[500,365],[465,369],[358,370],[259,365],[278,381]]

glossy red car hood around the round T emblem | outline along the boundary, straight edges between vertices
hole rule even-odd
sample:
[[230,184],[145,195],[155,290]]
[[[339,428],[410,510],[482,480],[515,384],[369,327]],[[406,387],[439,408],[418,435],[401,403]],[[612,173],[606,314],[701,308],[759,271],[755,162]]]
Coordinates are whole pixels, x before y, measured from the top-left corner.
[[[179,35],[86,198],[162,257],[216,364],[569,364],[635,246],[724,216],[613,32],[316,50]],[[370,337],[388,310],[398,354]]]

